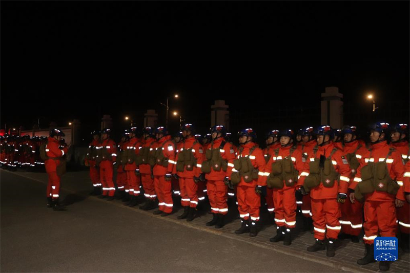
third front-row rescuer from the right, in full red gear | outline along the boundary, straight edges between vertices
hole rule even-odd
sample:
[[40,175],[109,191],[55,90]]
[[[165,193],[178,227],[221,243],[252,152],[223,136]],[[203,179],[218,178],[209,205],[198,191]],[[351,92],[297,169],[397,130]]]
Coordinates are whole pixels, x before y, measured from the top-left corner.
[[296,227],[296,189],[303,185],[304,162],[302,153],[294,143],[295,135],[292,130],[282,130],[278,133],[280,148],[275,149],[265,166],[264,175],[267,185],[273,189],[275,202],[276,236],[271,242],[283,240],[283,245],[291,245],[292,229]]

